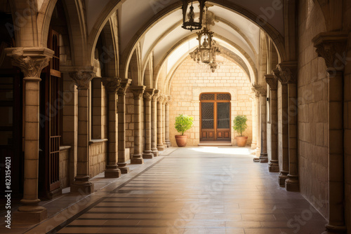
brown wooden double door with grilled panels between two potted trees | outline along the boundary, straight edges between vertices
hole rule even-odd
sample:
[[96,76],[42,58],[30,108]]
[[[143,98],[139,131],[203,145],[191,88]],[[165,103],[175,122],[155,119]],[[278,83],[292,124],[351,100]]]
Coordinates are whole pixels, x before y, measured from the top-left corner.
[[200,95],[200,140],[230,141],[232,97],[229,93]]

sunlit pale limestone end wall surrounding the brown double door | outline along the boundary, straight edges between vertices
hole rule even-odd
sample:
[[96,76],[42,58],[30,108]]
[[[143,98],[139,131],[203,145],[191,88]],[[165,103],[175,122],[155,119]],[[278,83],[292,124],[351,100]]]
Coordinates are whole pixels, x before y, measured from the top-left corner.
[[[200,142],[200,101],[203,92],[229,92],[232,95],[232,121],[235,116],[244,114],[248,118],[248,128],[244,132],[248,136],[248,145],[252,142],[252,111],[251,83],[246,73],[234,62],[224,58],[220,69],[214,73],[199,71],[197,63],[190,57],[179,67],[171,81],[170,95],[170,139],[176,146],[175,135],[179,133],[174,128],[176,116],[184,113],[194,117],[194,126],[185,134],[189,136],[187,146],[197,146]],[[231,123],[232,126],[232,123]],[[232,129],[232,128],[231,128]],[[237,132],[232,129],[232,144]]]

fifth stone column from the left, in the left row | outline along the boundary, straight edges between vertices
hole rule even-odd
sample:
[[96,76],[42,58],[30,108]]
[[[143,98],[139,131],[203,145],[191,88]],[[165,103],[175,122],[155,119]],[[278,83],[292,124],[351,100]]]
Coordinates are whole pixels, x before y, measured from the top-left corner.
[[134,154],[131,158],[131,164],[143,164],[143,156],[141,155],[141,97],[145,86],[131,86],[134,96]]

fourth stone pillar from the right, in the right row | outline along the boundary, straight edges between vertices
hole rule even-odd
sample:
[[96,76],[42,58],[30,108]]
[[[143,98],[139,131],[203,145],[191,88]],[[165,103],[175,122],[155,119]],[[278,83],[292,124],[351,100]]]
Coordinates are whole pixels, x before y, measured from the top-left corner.
[[274,75],[265,75],[265,81],[270,85],[270,129],[272,159],[269,163],[270,172],[279,172],[278,161],[278,79]]

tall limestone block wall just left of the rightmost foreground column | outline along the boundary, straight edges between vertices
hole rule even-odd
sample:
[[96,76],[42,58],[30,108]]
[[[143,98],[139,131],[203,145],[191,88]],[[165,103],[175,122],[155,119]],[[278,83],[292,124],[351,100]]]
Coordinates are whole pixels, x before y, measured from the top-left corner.
[[317,57],[314,36],[326,32],[314,1],[299,1],[298,17],[298,164],[300,191],[328,216],[328,79]]

